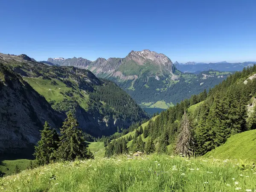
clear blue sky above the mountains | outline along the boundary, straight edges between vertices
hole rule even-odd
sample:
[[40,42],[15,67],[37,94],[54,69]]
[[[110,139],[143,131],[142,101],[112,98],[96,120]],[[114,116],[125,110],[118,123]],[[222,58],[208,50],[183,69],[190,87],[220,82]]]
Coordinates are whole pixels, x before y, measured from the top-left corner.
[[3,0],[0,52],[172,61],[256,61],[256,0]]

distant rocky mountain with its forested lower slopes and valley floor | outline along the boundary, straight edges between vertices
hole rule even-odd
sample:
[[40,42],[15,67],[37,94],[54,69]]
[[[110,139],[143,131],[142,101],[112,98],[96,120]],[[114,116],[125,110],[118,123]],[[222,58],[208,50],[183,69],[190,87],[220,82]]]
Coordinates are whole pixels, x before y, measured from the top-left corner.
[[48,58],[41,62],[87,69],[99,78],[114,81],[152,114],[208,90],[231,74],[213,70],[197,75],[182,73],[166,55],[150,50],[131,51],[125,58]]

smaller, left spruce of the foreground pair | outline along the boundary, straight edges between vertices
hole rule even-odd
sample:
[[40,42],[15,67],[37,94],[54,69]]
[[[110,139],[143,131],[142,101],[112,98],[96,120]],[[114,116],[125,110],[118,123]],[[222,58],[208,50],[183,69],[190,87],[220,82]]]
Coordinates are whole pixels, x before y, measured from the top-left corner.
[[51,128],[46,121],[44,123],[44,129],[41,130],[41,140],[35,146],[34,156],[38,165],[48,164],[56,159],[54,152],[58,149],[58,143],[59,137],[57,131]]

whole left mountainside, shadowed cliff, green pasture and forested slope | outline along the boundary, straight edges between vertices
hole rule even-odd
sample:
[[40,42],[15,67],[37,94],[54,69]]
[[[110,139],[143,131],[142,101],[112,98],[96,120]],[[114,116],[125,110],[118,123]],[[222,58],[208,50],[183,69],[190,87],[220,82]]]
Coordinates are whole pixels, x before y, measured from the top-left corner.
[[0,152],[33,146],[44,122],[58,130],[68,111],[95,137],[148,118],[113,82],[89,70],[49,66],[27,55],[0,54],[0,96]]

